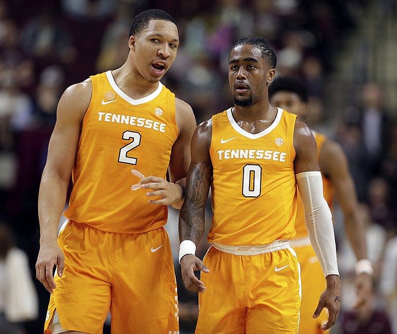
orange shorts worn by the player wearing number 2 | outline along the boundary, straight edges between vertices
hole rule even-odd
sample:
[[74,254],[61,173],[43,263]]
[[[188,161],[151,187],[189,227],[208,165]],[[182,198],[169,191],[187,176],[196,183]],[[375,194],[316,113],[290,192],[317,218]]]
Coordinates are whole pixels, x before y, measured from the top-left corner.
[[62,328],[101,334],[110,310],[112,334],[179,333],[178,298],[169,237],[161,227],[111,233],[68,222],[58,236],[65,255],[51,295]]

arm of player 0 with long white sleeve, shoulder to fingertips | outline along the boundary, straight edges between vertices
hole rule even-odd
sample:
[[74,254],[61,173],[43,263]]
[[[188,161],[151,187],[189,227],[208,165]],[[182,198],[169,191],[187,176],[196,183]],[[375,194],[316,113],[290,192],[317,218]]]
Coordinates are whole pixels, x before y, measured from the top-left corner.
[[305,210],[305,223],[310,242],[326,276],[327,288],[320,296],[313,317],[322,309],[329,310],[328,330],[335,324],[340,309],[340,279],[337,275],[336,246],[331,211],[323,195],[323,182],[317,165],[317,145],[309,128],[299,120],[294,131],[295,174]]

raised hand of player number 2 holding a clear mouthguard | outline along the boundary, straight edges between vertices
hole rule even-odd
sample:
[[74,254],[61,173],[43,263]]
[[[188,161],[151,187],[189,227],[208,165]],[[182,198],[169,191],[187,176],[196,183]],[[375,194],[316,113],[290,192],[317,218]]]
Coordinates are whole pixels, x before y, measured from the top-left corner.
[[[141,188],[145,190],[146,196],[150,197],[148,203],[156,205],[171,205],[182,199],[182,187],[178,184],[168,182],[162,177],[148,176],[140,181]],[[160,198],[154,198],[160,197]]]

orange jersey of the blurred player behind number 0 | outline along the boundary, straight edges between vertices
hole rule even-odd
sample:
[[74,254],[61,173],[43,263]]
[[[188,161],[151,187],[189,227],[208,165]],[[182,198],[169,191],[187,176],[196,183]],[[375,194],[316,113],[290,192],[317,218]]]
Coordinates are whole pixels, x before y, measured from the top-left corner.
[[[312,131],[314,138],[316,139],[317,143],[317,161],[320,159],[320,152],[323,147],[323,144],[327,140],[327,137],[321,133],[318,133],[316,131]],[[324,191],[324,198],[326,199],[328,205],[331,208],[332,211],[332,204],[333,204],[333,187],[331,184],[331,181],[329,178],[325,177],[322,174],[323,178],[323,191]],[[296,229],[296,238],[303,238],[303,237],[308,237],[306,225],[305,225],[305,212],[303,210],[303,204],[299,195],[298,191],[298,211],[296,214],[296,221],[295,221],[295,229]]]

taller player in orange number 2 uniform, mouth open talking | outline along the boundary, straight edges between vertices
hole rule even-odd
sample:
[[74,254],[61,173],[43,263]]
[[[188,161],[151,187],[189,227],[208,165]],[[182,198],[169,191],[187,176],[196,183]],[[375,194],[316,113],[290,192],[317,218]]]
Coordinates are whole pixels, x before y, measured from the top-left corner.
[[114,334],[179,331],[163,226],[167,205],[184,199],[196,121],[160,82],[178,44],[169,14],[144,11],[132,20],[123,66],[70,86],[60,99],[39,194],[36,271],[51,292],[45,333],[102,333],[109,309]]

